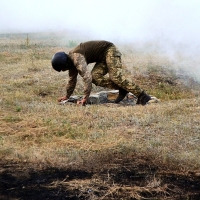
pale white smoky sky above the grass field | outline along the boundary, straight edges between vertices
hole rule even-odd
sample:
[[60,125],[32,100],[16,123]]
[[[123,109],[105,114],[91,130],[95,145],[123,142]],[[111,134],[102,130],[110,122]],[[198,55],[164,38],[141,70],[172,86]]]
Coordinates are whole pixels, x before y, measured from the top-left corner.
[[153,41],[171,55],[179,48],[200,80],[200,0],[0,0],[0,9],[0,33],[72,31],[114,43]]

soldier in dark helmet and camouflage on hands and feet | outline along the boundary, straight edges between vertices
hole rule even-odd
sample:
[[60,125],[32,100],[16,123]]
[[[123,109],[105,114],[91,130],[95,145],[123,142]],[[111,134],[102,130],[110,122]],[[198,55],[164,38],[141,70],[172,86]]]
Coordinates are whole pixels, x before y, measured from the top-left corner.
[[[96,63],[90,72],[87,65]],[[78,74],[84,82],[84,96],[77,104],[85,105],[92,90],[92,83],[97,86],[119,90],[115,103],[124,99],[128,92],[137,98],[137,104],[145,105],[151,97],[146,94],[123,71],[121,53],[116,46],[108,41],[88,41],[81,43],[69,54],[57,52],[52,58],[52,67],[60,71],[69,71],[69,81],[66,87],[66,95],[58,101],[67,100],[73,93]],[[105,76],[108,74],[109,76]]]

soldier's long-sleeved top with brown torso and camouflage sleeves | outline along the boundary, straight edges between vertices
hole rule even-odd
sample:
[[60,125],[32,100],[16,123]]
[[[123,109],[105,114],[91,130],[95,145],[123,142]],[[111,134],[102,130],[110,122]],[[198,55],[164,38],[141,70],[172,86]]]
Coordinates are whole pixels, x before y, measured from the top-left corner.
[[80,43],[69,52],[73,67],[69,70],[69,82],[67,85],[67,97],[69,97],[76,86],[77,75],[80,74],[84,82],[84,97],[88,98],[92,90],[92,75],[87,65],[93,62],[102,62],[109,47],[113,43],[104,40],[94,40]]

